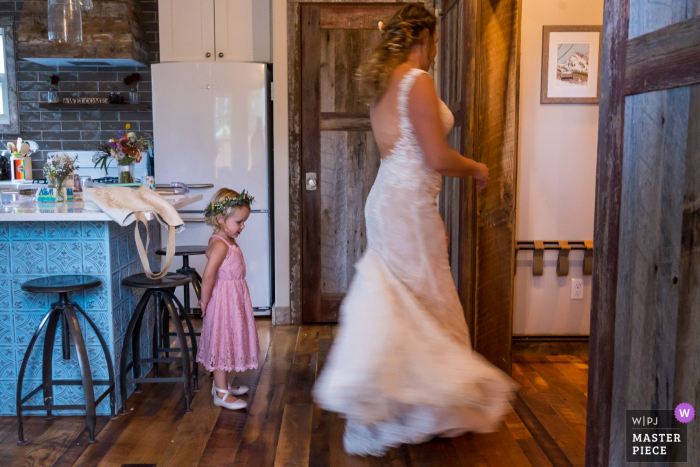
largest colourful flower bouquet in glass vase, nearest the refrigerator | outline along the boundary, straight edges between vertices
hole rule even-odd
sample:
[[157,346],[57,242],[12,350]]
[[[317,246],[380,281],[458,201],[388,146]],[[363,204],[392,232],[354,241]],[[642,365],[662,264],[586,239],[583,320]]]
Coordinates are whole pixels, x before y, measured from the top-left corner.
[[134,132],[130,132],[131,125],[126,125],[126,131],[117,133],[116,139],[110,139],[106,143],[100,143],[97,152],[92,158],[95,167],[98,165],[105,169],[112,160],[119,166],[119,183],[134,183],[133,166],[141,162],[142,152],[148,151],[151,146],[151,135],[138,138]]

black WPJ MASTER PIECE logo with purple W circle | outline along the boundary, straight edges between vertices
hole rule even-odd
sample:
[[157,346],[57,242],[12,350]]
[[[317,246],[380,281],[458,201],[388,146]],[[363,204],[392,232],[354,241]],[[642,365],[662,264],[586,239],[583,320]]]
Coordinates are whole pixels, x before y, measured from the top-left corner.
[[687,423],[694,417],[686,403],[675,410],[627,410],[627,462],[687,462]]

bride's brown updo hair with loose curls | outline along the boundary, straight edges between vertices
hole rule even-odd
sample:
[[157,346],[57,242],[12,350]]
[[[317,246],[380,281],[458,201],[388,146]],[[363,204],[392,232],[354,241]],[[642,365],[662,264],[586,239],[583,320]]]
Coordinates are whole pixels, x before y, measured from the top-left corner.
[[435,15],[419,3],[406,5],[388,23],[379,23],[382,41],[357,71],[363,101],[371,103],[382,97],[392,72],[408,59],[421,33],[427,29],[432,36],[436,26]]

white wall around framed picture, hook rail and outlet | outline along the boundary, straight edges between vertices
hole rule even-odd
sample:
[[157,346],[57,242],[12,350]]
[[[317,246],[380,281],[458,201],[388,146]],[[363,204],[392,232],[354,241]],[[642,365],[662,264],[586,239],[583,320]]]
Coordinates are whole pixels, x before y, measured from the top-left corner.
[[[528,240],[593,240],[598,106],[540,104],[542,27],[601,25],[603,0],[523,0],[516,235]],[[518,254],[513,333],[589,333],[590,276],[583,253],[570,255],[569,277],[545,253],[532,276],[532,253]],[[584,277],[584,300],[571,300],[571,278]]]

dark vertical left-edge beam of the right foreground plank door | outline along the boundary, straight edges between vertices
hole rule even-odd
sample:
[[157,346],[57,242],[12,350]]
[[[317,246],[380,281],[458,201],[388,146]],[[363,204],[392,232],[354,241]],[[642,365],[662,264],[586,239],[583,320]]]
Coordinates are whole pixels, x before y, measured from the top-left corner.
[[586,467],[608,465],[630,0],[605,2],[591,286]]

